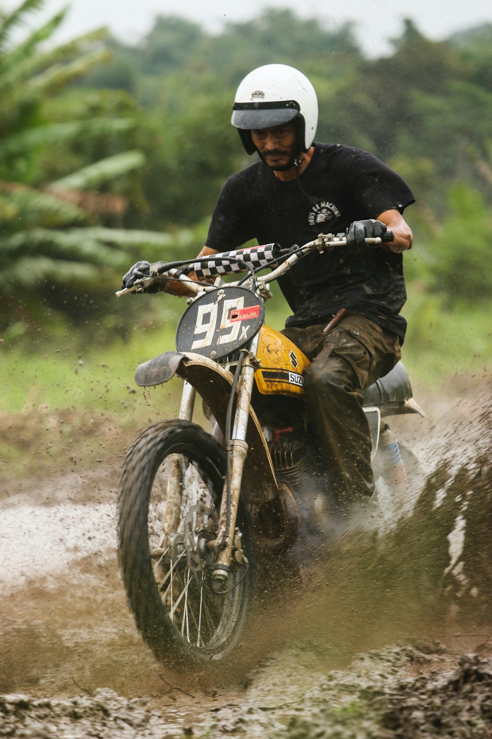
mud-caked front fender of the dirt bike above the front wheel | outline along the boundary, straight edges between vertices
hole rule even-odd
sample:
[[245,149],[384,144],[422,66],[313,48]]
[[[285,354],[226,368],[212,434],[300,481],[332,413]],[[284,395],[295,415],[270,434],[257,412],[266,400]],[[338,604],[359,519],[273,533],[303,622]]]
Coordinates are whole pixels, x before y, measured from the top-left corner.
[[[174,375],[192,385],[207,403],[225,435],[227,403],[234,376],[220,364],[200,354],[164,352],[141,364],[135,372],[137,385],[148,387],[169,381]],[[248,456],[243,471],[243,491],[249,503],[273,500],[278,486],[271,466],[270,452],[257,415],[250,406],[246,432]]]

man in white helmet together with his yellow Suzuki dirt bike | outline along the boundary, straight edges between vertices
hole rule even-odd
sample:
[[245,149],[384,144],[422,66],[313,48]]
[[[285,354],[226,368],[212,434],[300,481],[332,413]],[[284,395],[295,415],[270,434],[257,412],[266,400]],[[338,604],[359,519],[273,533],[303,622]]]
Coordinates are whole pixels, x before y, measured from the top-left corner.
[[[142,432],[119,483],[128,601],[160,659],[231,653],[257,559],[299,538],[313,488],[330,508],[367,501],[378,446],[404,477],[381,419],[420,412],[399,362],[401,252],[412,247],[402,213],[414,197],[367,152],[313,143],[316,123],[316,94],[296,69],[247,75],[232,124],[260,161],[227,180],[198,257],[137,262],[123,278],[122,293],[190,304],[178,351],[136,372],[141,386],[184,379],[179,419]],[[235,249],[252,238],[259,247]],[[246,276],[226,284],[228,272]],[[294,312],[282,333],[263,325],[277,279]],[[195,392],[212,435],[191,423]]]

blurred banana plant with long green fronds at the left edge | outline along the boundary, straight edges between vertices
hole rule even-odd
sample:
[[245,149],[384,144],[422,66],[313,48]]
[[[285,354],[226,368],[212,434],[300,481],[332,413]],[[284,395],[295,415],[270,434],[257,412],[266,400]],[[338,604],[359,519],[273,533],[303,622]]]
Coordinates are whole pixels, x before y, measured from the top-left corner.
[[138,189],[145,157],[128,146],[136,106],[83,89],[63,97],[108,58],[105,30],[45,50],[63,11],[10,42],[42,4],[24,0],[0,16],[0,321],[17,330],[21,319],[38,324],[53,310],[75,322],[106,312],[108,285],[133,252],[170,245],[166,235],[104,228],[123,225]]

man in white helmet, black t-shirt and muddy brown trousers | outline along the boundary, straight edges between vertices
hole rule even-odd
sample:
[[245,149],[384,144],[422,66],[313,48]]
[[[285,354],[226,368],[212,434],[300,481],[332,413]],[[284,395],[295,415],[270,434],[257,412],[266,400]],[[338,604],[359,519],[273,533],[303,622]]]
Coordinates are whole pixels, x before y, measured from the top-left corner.
[[[343,253],[311,253],[280,280],[294,311],[285,336],[311,360],[304,378],[310,418],[336,497],[349,503],[374,491],[362,397],[401,358],[401,252],[412,248],[402,213],[415,198],[398,174],[367,152],[313,143],[317,120],[316,92],[297,69],[269,64],[244,78],[232,125],[248,154],[257,152],[261,161],[227,180],[198,256],[253,238],[286,248],[319,231],[349,229]],[[367,236],[383,243],[367,248]],[[122,287],[148,269],[139,262]],[[162,290],[186,294],[179,282],[166,282]]]

